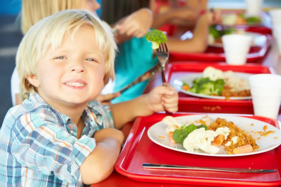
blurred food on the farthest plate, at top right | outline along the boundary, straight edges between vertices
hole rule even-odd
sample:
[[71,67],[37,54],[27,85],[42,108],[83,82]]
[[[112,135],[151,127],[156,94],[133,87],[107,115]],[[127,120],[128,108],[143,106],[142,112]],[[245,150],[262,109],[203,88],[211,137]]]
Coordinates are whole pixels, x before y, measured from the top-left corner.
[[261,18],[259,16],[245,17],[243,13],[240,14],[225,14],[222,15],[222,23],[224,25],[247,25],[247,24],[260,24]]

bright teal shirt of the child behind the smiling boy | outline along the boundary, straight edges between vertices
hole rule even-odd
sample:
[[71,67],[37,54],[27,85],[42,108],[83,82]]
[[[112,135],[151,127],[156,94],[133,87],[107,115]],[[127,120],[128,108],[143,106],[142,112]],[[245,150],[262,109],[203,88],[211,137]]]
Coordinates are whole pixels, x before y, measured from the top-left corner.
[[[115,60],[114,92],[118,92],[127,84],[130,84],[137,77],[158,63],[157,58],[152,58],[153,49],[151,42],[145,37],[132,38],[119,46],[119,53]],[[119,103],[134,99],[143,94],[149,80],[138,83],[112,100],[112,103]]]

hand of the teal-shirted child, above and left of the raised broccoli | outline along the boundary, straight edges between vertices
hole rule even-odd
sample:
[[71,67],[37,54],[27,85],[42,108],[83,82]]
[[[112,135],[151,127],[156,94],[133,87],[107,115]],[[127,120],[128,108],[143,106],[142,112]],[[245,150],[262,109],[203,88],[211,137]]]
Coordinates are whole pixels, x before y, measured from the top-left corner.
[[141,38],[149,31],[153,22],[151,10],[142,8],[126,17],[116,28],[118,33]]

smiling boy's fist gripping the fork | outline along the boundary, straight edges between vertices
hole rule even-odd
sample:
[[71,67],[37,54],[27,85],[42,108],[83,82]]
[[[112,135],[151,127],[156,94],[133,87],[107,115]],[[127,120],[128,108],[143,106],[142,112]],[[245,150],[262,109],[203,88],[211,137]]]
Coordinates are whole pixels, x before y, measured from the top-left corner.
[[171,85],[157,86],[148,94],[148,105],[151,111],[177,112],[179,96]]

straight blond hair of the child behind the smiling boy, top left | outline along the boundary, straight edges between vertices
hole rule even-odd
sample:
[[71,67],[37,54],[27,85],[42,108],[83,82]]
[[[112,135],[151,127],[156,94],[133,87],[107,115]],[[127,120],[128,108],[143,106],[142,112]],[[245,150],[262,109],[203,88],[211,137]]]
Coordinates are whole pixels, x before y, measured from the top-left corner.
[[35,23],[62,10],[78,9],[81,0],[22,0],[22,33]]

